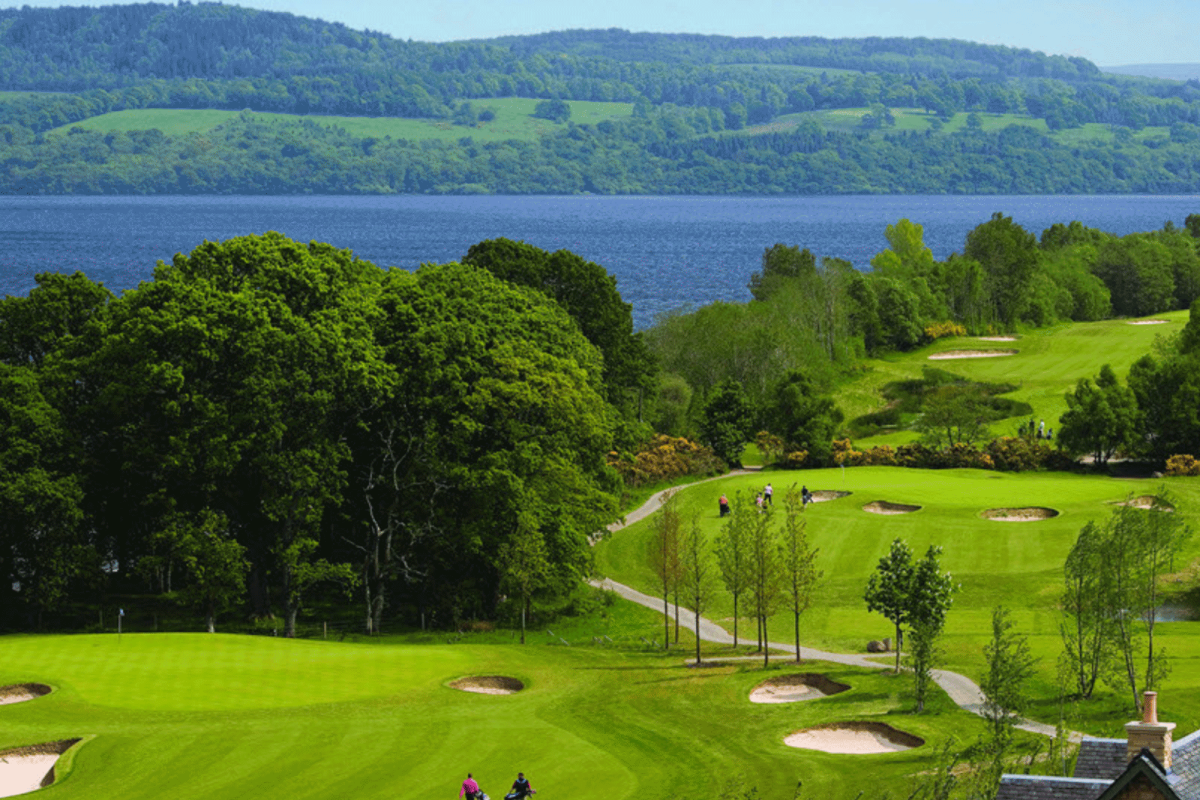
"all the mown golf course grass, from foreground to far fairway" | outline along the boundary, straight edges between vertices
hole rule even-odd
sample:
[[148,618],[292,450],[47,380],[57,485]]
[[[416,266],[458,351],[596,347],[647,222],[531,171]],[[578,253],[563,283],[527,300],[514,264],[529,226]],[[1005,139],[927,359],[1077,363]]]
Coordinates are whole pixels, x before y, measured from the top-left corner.
[[[1050,425],[1074,381],[1105,362],[1123,375],[1156,335],[1186,320],[1163,318],[1169,323],[1036,331],[996,344],[1015,354],[941,367],[1016,384],[1013,396]],[[919,375],[930,355],[988,344],[940,339],[870,361],[839,402],[847,411],[871,410],[884,383]],[[1015,423],[997,423],[994,433],[1010,433],[1002,428]],[[856,446],[911,438],[895,432]],[[865,655],[868,640],[892,636],[890,622],[866,610],[869,576],[895,539],[916,553],[940,546],[958,591],[938,666],[979,681],[991,612],[1003,604],[1038,658],[1030,714],[1050,724],[1060,716],[1063,561],[1080,528],[1103,522],[1116,504],[1163,489],[1193,527],[1200,509],[1200,483],[1187,477],[886,467],[742,471],[680,487],[679,506],[715,536],[722,525],[718,497],[752,494],[768,481],[776,505],[792,485],[821,500],[804,512],[823,572],[800,620],[804,646]],[[596,545],[598,577],[655,594],[653,518],[629,513],[628,525]],[[1198,555],[1193,539],[1164,581],[1164,606],[1174,609],[1165,619],[1194,612]],[[704,616],[732,631],[732,613],[730,596],[718,590]],[[1159,712],[1178,723],[1180,735],[1200,726],[1198,630],[1195,621],[1163,621],[1156,631],[1172,663]],[[468,771],[499,798],[518,770],[547,798],[850,799],[864,789],[868,796],[908,796],[946,751],[960,752],[984,733],[983,720],[940,690],[914,714],[911,676],[887,669],[890,654],[877,657],[877,669],[796,664],[788,651],[776,651],[766,669],[761,656],[721,661],[751,652],[754,620],[743,618],[739,631],[737,652],[706,643],[708,664],[696,668],[686,628],[664,651],[661,614],[598,593],[578,615],[530,630],[524,646],[504,628],[344,640],[10,636],[0,640],[0,686],[36,682],[53,691],[0,705],[0,751],[80,740],[42,790],[64,800],[451,796]],[[770,640],[787,642],[791,631],[788,613],[770,619]],[[800,674],[812,687],[835,688],[811,692]],[[462,682],[472,678],[478,680]],[[751,702],[764,685],[804,702]],[[462,691],[472,686],[479,691]],[[1130,718],[1127,694],[1108,687],[1094,699],[1067,703],[1063,714],[1070,729],[1108,736]],[[887,752],[805,748],[806,738],[829,729],[898,732],[902,744]]]

